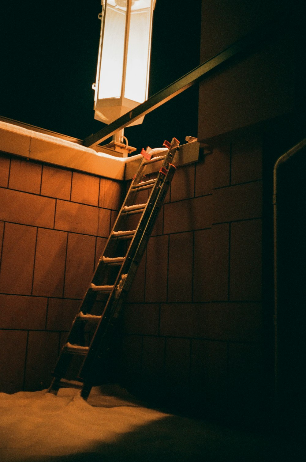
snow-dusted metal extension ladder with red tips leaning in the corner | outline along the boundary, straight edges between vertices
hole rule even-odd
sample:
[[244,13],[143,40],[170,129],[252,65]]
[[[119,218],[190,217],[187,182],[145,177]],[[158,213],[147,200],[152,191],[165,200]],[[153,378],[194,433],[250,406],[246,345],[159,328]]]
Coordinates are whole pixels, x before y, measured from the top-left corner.
[[[55,395],[60,388],[74,387],[81,389],[81,396],[86,400],[92,386],[97,384],[96,378],[108,354],[121,305],[174,176],[172,162],[179,141],[174,138],[171,145],[165,142],[164,146],[168,151],[163,151],[162,155],[151,156],[150,152],[142,151],[144,158],[54,368],[49,392]],[[139,195],[144,194],[148,195],[147,201],[138,204]]]

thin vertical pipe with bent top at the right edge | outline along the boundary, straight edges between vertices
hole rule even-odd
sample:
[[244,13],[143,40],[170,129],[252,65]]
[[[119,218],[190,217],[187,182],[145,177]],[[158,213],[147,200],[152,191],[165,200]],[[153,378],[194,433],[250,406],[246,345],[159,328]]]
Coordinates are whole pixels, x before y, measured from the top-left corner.
[[274,235],[274,401],[275,401],[275,410],[277,411],[279,406],[279,382],[278,382],[278,329],[277,329],[277,309],[278,309],[278,294],[277,294],[277,277],[278,277],[278,268],[277,268],[277,169],[278,167],[286,162],[291,156],[299,152],[301,149],[306,147],[306,138],[291,149],[282,154],[274,165],[273,169],[273,235]]

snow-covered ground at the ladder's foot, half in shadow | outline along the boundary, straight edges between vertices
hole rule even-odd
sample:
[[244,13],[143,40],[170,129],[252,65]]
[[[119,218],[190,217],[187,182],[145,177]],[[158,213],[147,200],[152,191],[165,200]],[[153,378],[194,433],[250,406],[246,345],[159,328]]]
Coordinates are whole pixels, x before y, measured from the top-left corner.
[[[116,388],[0,393],[0,461],[278,461],[259,436],[146,408]],[[291,459],[293,460],[293,459]]]

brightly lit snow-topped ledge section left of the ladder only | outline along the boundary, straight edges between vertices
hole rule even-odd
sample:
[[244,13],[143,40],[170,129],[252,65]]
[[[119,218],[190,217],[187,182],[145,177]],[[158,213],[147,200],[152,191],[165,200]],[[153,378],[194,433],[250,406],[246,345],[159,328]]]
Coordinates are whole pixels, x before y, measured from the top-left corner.
[[[72,141],[0,121],[0,151],[115,180],[125,180],[126,163],[137,170],[141,155],[117,158]],[[131,170],[131,169],[129,169]]]

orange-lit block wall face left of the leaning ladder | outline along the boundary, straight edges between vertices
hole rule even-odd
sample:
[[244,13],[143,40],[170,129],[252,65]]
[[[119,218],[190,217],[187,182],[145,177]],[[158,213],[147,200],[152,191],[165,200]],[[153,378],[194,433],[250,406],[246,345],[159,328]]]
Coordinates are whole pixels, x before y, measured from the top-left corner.
[[0,153],[0,391],[48,387],[122,183]]

